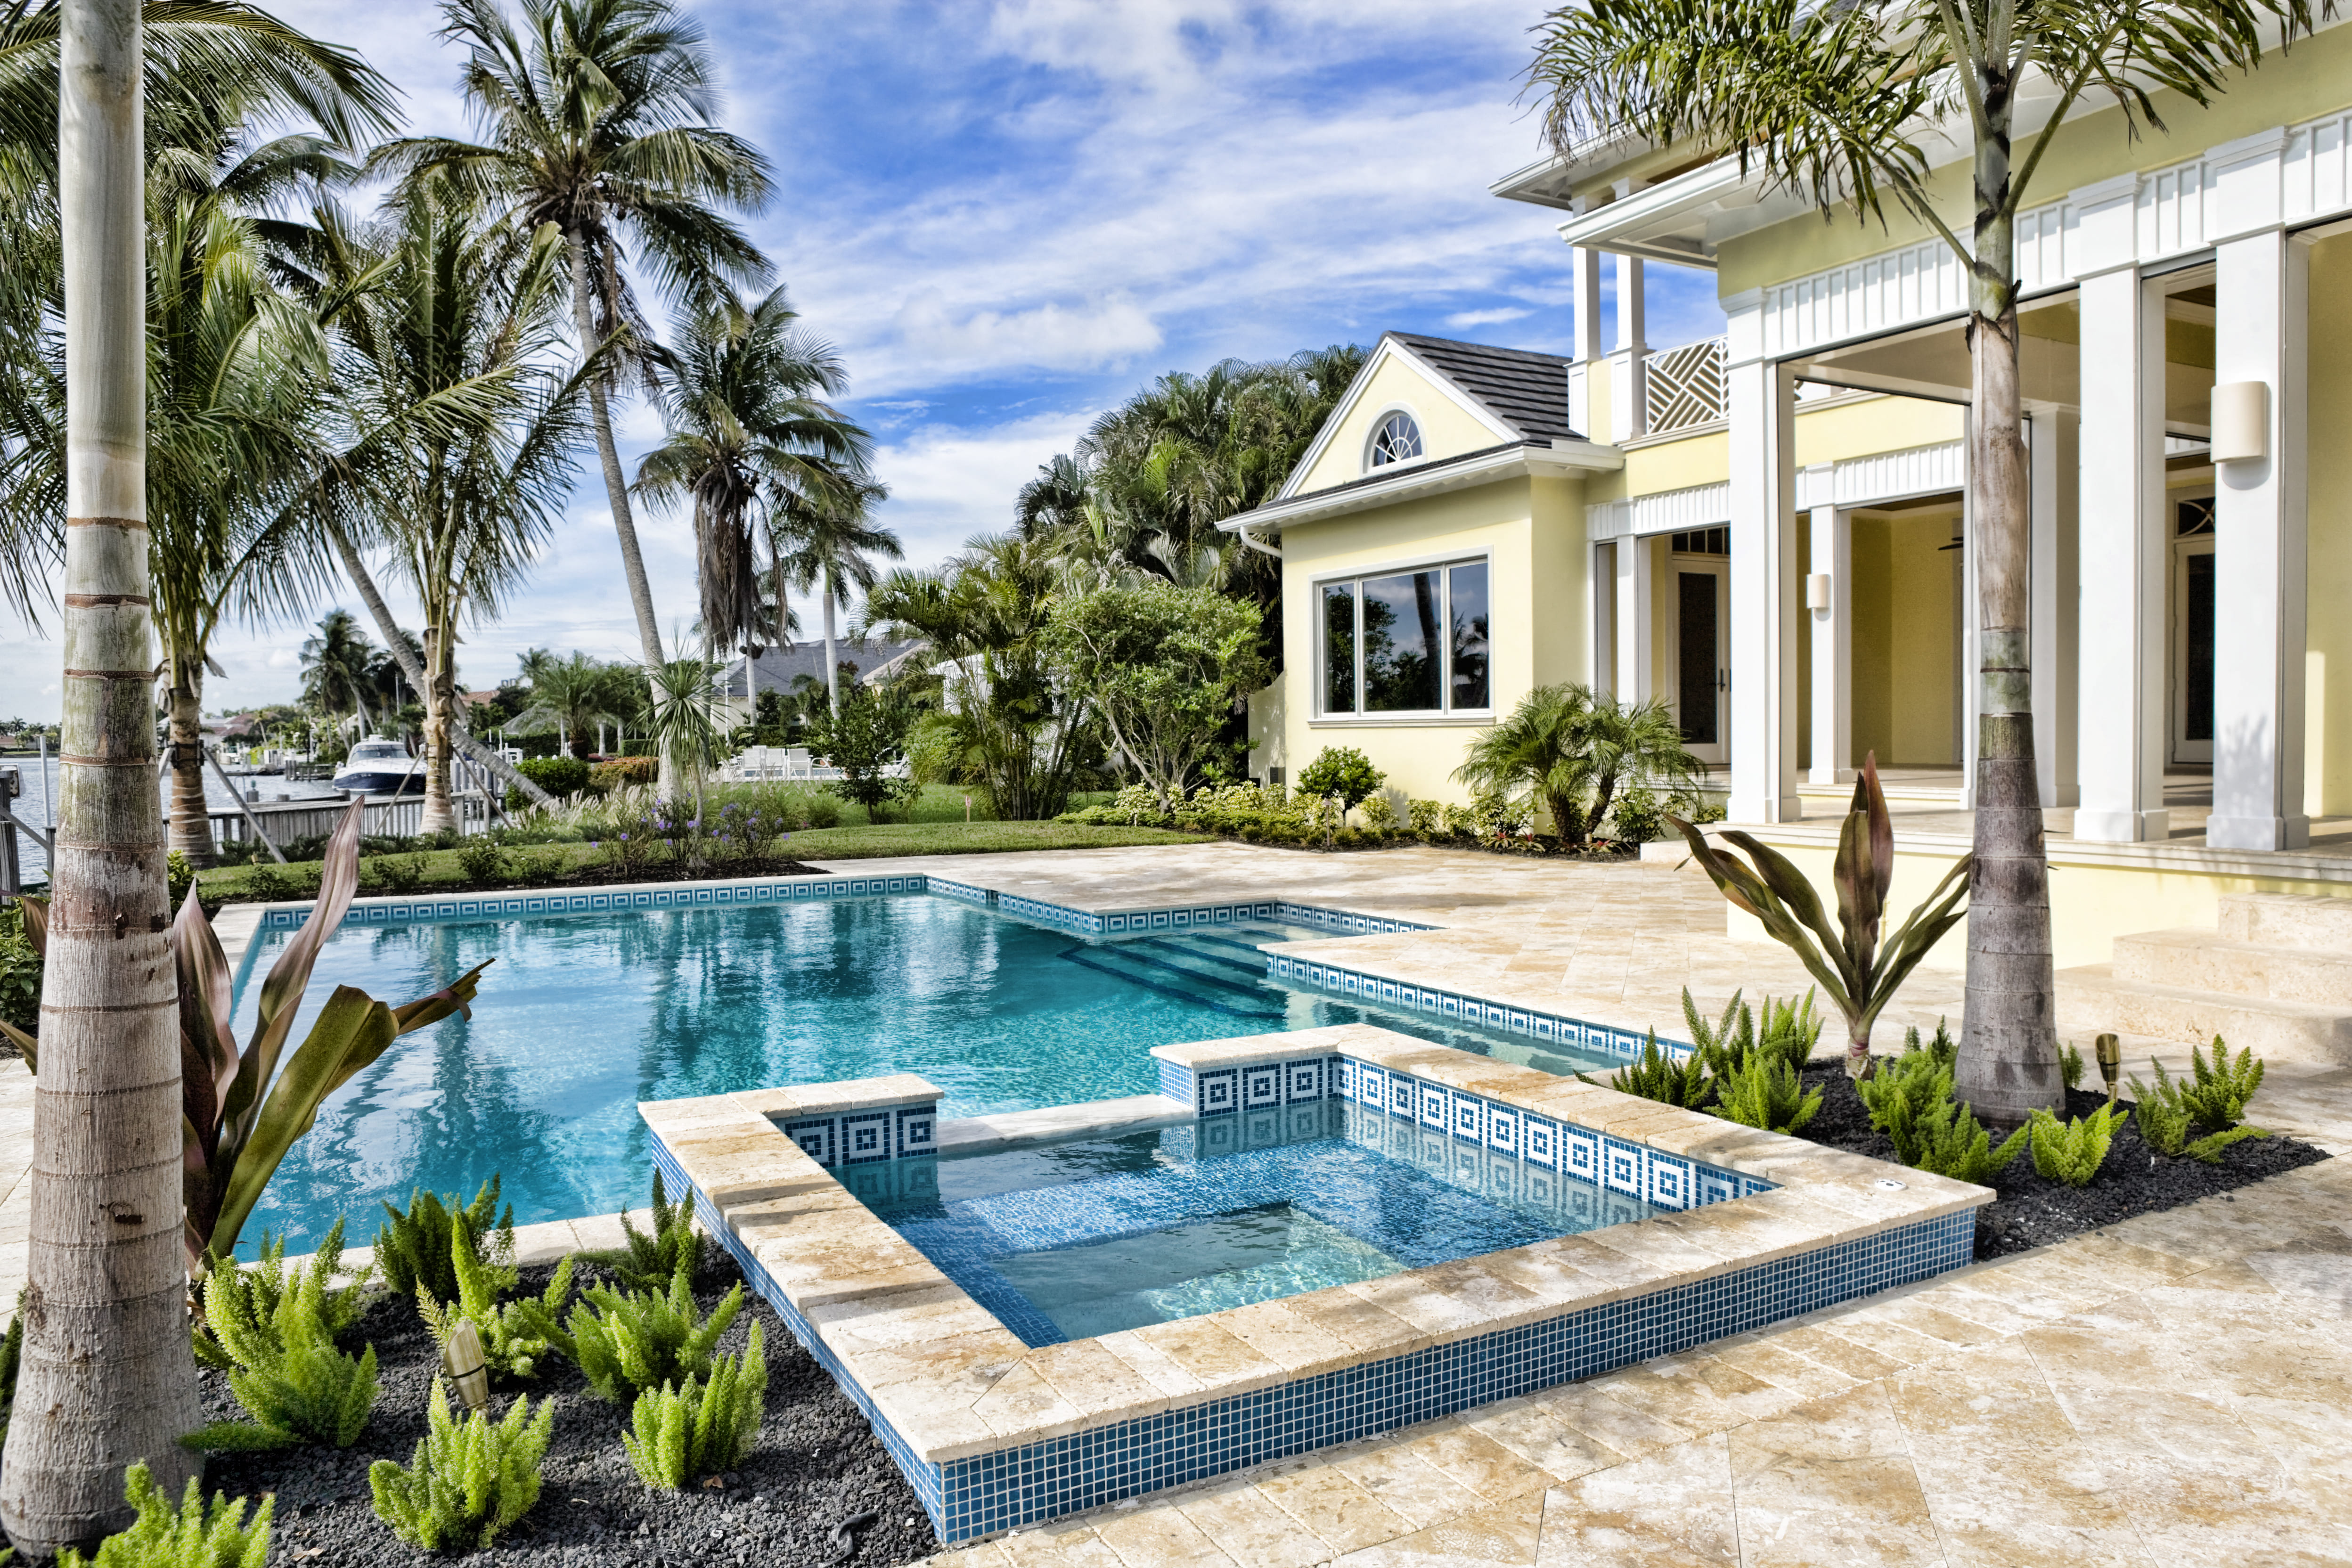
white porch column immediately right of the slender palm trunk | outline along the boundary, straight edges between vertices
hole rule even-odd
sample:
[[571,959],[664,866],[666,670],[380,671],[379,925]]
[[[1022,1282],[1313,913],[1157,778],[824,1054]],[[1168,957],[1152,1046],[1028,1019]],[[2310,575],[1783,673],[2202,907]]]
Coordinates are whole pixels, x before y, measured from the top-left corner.
[[[2129,197],[2126,197],[2129,221]],[[2129,254],[2129,252],[2126,252]],[[2082,280],[2077,839],[2166,835],[2164,308],[2136,266]]]

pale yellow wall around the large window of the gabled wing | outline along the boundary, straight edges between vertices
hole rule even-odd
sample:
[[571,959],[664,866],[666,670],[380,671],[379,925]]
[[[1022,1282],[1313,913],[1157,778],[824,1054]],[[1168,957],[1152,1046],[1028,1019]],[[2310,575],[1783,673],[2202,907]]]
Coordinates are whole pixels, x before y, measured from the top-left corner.
[[[1282,696],[1251,701],[1251,771],[1298,769],[1327,745],[1352,745],[1388,773],[1388,790],[1414,799],[1465,802],[1449,773],[1489,719],[1383,724],[1317,719],[1317,583],[1383,567],[1486,552],[1489,679],[1494,710],[1538,684],[1590,679],[1585,668],[1585,494],[1578,480],[1501,480],[1475,489],[1399,501],[1282,534]],[[1261,731],[1258,726],[1275,726]]]

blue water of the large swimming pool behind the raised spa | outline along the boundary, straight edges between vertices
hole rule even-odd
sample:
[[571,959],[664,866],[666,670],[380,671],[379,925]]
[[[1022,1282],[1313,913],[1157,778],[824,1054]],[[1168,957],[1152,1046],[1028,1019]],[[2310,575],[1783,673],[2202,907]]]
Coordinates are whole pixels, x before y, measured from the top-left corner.
[[[1265,980],[1254,943],[1301,936],[1327,933],[1089,943],[931,896],[343,929],[294,1039],[336,985],[397,1006],[496,961],[470,1020],[393,1041],[320,1110],[245,1246],[270,1227],[301,1251],[339,1213],[362,1241],[381,1199],[470,1194],[492,1173],[517,1222],[642,1208],[637,1100],[920,1072],[946,1091],[941,1114],[976,1117],[1152,1093],[1157,1044],[1355,1020],[1552,1072],[1597,1065]],[[287,938],[254,943],[240,1039]]]

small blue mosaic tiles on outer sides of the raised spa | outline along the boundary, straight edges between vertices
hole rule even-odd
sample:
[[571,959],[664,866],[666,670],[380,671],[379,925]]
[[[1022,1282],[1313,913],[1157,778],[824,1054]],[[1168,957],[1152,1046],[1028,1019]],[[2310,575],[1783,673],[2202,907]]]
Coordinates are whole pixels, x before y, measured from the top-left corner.
[[950,1544],[1597,1378],[1635,1361],[1931,1279],[1966,1265],[1976,1251],[1976,1211],[1964,1208],[1541,1324],[1432,1345],[1044,1443],[929,1465],[875,1410],[866,1389],[691,1185],[659,1135],[654,1161],[673,1190],[694,1192],[694,1211],[703,1227],[720,1239],[786,1328],[873,1422],[875,1436],[915,1488],[938,1537]]

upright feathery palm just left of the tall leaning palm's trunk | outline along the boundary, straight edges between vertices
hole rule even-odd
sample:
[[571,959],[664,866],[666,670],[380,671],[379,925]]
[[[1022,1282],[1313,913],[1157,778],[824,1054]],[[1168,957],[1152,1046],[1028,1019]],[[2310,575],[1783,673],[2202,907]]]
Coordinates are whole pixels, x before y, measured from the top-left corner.
[[456,642],[494,616],[572,487],[579,388],[548,369],[562,247],[489,223],[445,176],[334,247],[336,454],[346,494],[423,604],[423,832],[456,832]]

